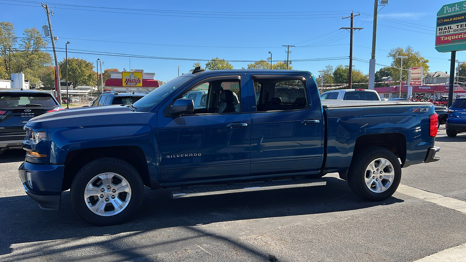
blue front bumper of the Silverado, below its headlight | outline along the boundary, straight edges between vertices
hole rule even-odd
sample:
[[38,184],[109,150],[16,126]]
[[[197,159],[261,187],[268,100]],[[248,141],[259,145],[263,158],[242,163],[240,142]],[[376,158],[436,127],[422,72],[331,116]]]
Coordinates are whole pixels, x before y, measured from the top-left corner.
[[[62,196],[63,165],[33,164],[24,162],[18,169],[27,195],[39,204],[41,209],[59,210]],[[30,173],[30,180],[27,174]]]

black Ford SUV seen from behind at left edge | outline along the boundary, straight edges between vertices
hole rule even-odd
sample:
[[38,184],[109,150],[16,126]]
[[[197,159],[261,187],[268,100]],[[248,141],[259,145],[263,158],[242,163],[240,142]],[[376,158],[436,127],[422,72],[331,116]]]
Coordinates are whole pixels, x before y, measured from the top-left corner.
[[23,127],[29,119],[62,109],[46,91],[0,90],[0,152],[22,148]]

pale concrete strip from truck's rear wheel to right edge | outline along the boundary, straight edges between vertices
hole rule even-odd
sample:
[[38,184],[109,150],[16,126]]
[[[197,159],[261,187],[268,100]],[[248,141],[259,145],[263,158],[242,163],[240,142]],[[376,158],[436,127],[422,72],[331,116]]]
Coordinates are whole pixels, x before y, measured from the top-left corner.
[[457,200],[451,197],[446,197],[446,196],[439,195],[436,193],[427,192],[422,189],[418,189],[412,186],[405,186],[402,184],[398,186],[397,192],[405,194],[405,195],[409,195],[409,196],[412,196],[418,199],[423,199],[425,201],[429,201],[437,205],[447,207],[450,209],[454,209],[461,213],[466,214],[466,202],[465,201]]

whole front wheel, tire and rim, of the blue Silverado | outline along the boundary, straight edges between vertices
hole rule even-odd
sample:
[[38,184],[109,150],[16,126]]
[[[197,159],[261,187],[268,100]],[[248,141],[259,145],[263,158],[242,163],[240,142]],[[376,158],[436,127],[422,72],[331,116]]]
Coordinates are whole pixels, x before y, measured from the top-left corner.
[[130,220],[144,199],[144,184],[137,170],[115,158],[96,159],[76,174],[70,189],[76,215],[95,226]]

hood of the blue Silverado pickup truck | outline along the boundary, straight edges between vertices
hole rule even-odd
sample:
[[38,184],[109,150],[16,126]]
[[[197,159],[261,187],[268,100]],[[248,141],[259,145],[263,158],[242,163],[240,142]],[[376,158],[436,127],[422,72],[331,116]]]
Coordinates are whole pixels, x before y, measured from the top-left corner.
[[[76,127],[119,124],[148,124],[153,112],[134,112],[129,107],[120,105],[83,107],[60,110],[34,117],[27,122],[27,127]],[[156,123],[156,122],[154,122]]]

